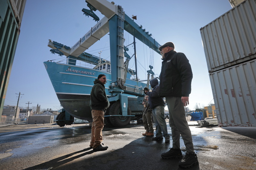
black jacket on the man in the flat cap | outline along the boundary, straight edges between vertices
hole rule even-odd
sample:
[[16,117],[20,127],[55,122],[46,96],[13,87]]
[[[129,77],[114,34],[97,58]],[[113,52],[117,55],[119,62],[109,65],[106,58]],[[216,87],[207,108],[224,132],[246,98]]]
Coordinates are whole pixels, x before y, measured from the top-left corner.
[[164,55],[159,76],[159,96],[188,97],[193,74],[186,55],[174,50]]

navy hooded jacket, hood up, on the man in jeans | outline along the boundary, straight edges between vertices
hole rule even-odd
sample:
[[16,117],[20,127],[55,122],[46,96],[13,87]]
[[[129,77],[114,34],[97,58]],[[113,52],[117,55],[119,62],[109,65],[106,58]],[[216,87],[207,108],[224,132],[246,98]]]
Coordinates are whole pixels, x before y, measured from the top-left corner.
[[148,92],[148,102],[149,106],[153,109],[156,106],[165,106],[164,99],[162,97],[159,97],[159,85],[158,80],[156,78],[149,81],[149,84],[151,85],[152,92]]

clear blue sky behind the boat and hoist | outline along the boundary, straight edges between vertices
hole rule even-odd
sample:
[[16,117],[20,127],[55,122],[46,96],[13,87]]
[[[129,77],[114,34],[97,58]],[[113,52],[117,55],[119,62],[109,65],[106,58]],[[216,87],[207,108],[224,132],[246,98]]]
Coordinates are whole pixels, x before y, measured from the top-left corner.
[[[177,52],[183,52],[192,67],[192,92],[189,96],[189,108],[196,104],[207,106],[214,103],[208,74],[200,28],[220,17],[231,9],[228,0],[113,0],[121,5],[125,13],[137,16],[136,23],[142,25],[159,44],[172,41]],[[111,2],[111,1],[109,1]],[[12,72],[7,89],[5,105],[16,105],[20,92],[19,106],[41,105],[41,108],[60,108],[60,102],[44,68],[44,61],[60,58],[53,55],[47,46],[48,40],[57,41],[69,47],[73,46],[89,29],[96,24],[92,18],[83,15],[87,7],[85,0],[27,0],[22,18],[19,41],[14,57]],[[95,12],[101,19],[103,15]],[[125,43],[132,43],[126,38]],[[127,45],[125,44],[125,45]],[[154,58],[155,74],[161,71],[161,56],[150,54],[146,46],[138,42],[137,58],[143,70],[149,70],[149,56]],[[108,36],[103,37],[86,52],[107,58]],[[65,56],[62,56],[62,58]],[[108,60],[110,60],[108,58]],[[152,62],[152,61],[151,61]],[[147,65],[148,64],[148,65]],[[130,63],[132,66],[132,63]],[[139,76],[145,79],[145,76]],[[17,93],[17,94],[16,94]]]

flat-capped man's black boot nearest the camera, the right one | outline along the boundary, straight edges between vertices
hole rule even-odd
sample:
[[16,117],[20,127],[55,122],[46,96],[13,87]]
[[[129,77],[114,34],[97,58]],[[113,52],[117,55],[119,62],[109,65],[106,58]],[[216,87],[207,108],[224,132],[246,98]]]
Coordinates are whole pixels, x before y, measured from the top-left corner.
[[189,168],[196,164],[199,164],[196,154],[188,152],[179,162],[179,166],[182,168]]

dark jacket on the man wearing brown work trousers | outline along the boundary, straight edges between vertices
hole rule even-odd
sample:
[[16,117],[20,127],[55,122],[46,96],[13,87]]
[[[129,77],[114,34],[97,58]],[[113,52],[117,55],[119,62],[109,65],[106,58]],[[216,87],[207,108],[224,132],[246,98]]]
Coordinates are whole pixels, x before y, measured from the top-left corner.
[[98,79],[95,79],[93,83],[90,101],[91,110],[105,110],[109,107],[105,86]]

